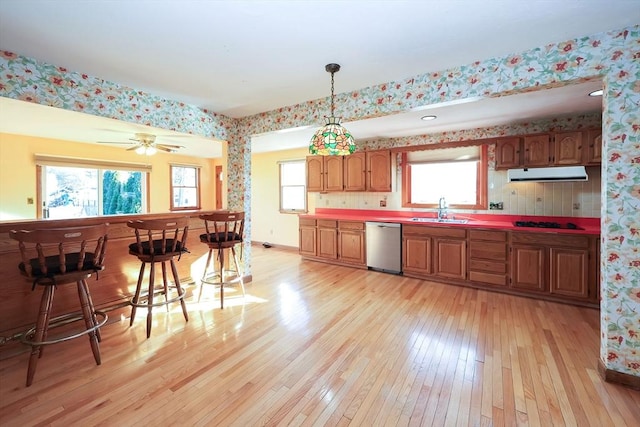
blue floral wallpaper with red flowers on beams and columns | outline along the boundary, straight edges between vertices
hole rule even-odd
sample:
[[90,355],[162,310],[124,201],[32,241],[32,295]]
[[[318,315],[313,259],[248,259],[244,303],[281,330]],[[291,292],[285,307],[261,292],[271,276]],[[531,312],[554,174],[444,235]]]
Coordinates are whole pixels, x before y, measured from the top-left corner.
[[[639,64],[640,27],[632,26],[336,96],[336,116],[347,122],[438,102],[603,80],[601,359],[607,369],[632,376],[640,376]],[[250,135],[320,125],[329,102],[312,100],[231,120],[10,52],[0,52],[0,96],[226,139],[228,204],[245,210],[250,209]]]

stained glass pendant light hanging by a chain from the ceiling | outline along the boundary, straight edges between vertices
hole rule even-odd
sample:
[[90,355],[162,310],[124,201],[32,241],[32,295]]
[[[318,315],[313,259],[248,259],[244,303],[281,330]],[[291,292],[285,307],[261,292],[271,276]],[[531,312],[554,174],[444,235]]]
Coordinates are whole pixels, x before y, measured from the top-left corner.
[[327,70],[328,73],[331,73],[331,116],[325,116],[327,124],[318,129],[316,133],[313,134],[313,137],[311,137],[309,153],[321,156],[346,156],[353,154],[356,151],[356,143],[353,137],[348,130],[340,125],[340,118],[333,115],[335,110],[333,75],[340,71],[340,65],[327,64],[324,69]]

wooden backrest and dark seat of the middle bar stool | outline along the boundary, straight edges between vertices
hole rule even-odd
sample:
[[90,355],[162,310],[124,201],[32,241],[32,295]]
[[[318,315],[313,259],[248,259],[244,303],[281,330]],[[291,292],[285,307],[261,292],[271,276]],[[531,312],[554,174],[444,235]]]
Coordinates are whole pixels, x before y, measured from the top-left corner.
[[135,230],[136,243],[129,248],[137,254],[159,256],[187,251],[189,217],[132,220],[127,226]]

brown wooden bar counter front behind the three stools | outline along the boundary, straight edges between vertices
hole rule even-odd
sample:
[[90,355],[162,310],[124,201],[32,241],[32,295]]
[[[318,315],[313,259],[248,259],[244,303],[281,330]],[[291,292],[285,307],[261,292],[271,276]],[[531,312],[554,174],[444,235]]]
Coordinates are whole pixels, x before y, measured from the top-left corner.
[[[41,292],[32,291],[31,283],[20,274],[20,252],[18,243],[9,238],[10,230],[34,230],[60,227],[77,227],[108,223],[108,244],[105,258],[106,268],[98,277],[89,279],[93,302],[98,310],[110,310],[126,307],[129,314],[128,302],[133,295],[140,262],[129,255],[129,244],[135,242],[133,229],[127,227],[127,221],[132,219],[155,219],[172,217],[189,217],[189,235],[187,239],[188,253],[181,256],[176,263],[180,281],[186,284],[188,293],[192,292],[190,283],[202,275],[207,256],[207,246],[200,243],[199,235],[204,232],[204,222],[198,218],[199,214],[210,212],[180,212],[146,215],[121,215],[109,217],[92,217],[63,220],[30,220],[6,221],[0,223],[0,338],[10,339],[16,334],[29,329],[37,315]],[[68,288],[68,289],[67,289]],[[52,316],[77,311],[78,296],[73,286],[60,287],[56,293],[56,304]],[[1,347],[1,346],[0,346]],[[0,348],[2,353],[2,348]]]

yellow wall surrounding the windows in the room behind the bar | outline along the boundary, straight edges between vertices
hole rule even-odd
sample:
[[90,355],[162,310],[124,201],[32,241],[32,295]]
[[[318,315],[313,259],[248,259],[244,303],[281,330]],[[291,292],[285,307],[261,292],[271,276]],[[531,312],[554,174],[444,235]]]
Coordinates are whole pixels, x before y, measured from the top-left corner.
[[[0,220],[36,218],[35,154],[151,164],[149,211],[152,213],[169,212],[170,163],[200,166],[202,209],[215,209],[213,159],[163,152],[147,157],[107,145],[0,133]],[[27,198],[33,198],[34,204],[28,204]]]

